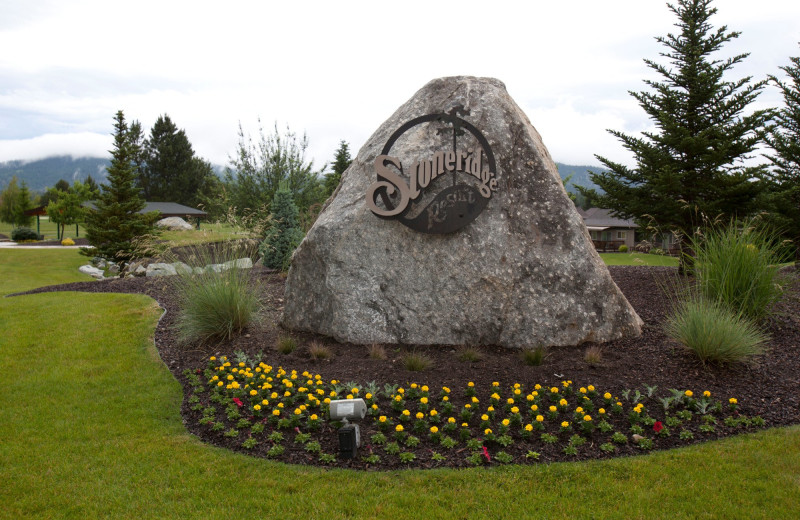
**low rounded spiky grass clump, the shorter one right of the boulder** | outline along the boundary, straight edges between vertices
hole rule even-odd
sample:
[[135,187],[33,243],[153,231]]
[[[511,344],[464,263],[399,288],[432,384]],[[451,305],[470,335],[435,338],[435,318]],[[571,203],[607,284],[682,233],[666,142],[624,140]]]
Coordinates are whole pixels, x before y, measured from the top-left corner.
[[680,300],[667,317],[665,332],[704,363],[747,361],[763,352],[767,336],[742,314],[699,293]]

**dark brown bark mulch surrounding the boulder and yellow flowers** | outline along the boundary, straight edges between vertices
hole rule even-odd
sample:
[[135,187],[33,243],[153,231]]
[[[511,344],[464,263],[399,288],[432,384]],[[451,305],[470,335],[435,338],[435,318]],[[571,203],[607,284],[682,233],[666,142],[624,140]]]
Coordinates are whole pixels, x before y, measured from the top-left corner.
[[[662,294],[663,280],[674,276],[674,269],[639,266],[612,266],[609,268],[617,285],[625,293],[639,316],[644,320],[644,330],[640,338],[619,340],[601,345],[602,363],[590,366],[584,360],[585,349],[593,345],[581,347],[554,347],[549,349],[548,356],[541,366],[527,366],[520,362],[519,353],[498,347],[480,347],[482,360],[478,362],[462,362],[458,359],[458,347],[453,346],[402,346],[385,345],[387,358],[373,359],[368,355],[368,347],[363,345],[340,344],[332,340],[310,334],[290,333],[277,324],[283,305],[284,279],[261,267],[252,270],[252,278],[263,284],[263,319],[259,324],[251,326],[245,334],[223,345],[213,348],[179,347],[175,339],[173,326],[177,314],[177,301],[169,278],[128,278],[106,280],[100,282],[80,282],[60,286],[43,287],[32,292],[49,291],[86,291],[86,292],[120,292],[144,293],[156,299],[167,313],[160,321],[155,341],[162,359],[174,376],[183,384],[185,396],[182,414],[187,428],[203,440],[212,444],[226,446],[231,449],[246,451],[241,447],[244,437],[229,438],[223,432],[213,432],[208,426],[198,423],[199,411],[192,411],[188,398],[192,388],[186,370],[196,372],[207,367],[211,355],[236,357],[243,352],[248,357],[256,358],[264,354],[264,361],[275,367],[282,366],[288,370],[308,370],[320,374],[326,381],[356,381],[366,383],[377,381],[398,383],[406,386],[410,382],[427,384],[433,391],[442,386],[454,390],[454,402],[463,401],[462,390],[468,381],[473,381],[476,388],[489,389],[493,381],[498,381],[501,388],[508,389],[515,382],[523,383],[529,391],[535,383],[545,387],[559,385],[563,380],[571,380],[575,387],[594,385],[601,393],[609,391],[621,396],[626,389],[639,389],[644,392],[644,385],[658,386],[658,395],[670,395],[669,388],[692,389],[699,395],[704,390],[727,403],[729,397],[739,400],[738,413],[753,417],[761,416],[768,426],[781,426],[800,423],[800,279],[796,271],[790,269],[786,293],[776,307],[775,314],[766,324],[771,336],[768,351],[752,365],[704,366],[691,353],[672,343],[662,332],[662,323],[668,310],[668,298]],[[292,354],[284,355],[275,350],[280,337],[294,337],[300,347]],[[333,357],[325,361],[314,361],[308,355],[307,347],[312,342],[327,345]],[[432,361],[432,367],[424,372],[411,372],[403,366],[403,356],[407,352],[425,354]],[[200,376],[201,378],[203,376]],[[479,392],[481,402],[485,403],[484,390]],[[204,397],[207,402],[207,396]],[[438,399],[437,399],[438,402]],[[627,406],[627,405],[626,405]],[[657,416],[658,405],[655,399],[647,402],[648,410]],[[221,407],[220,407],[221,408]],[[382,410],[388,405],[382,404]],[[457,408],[458,409],[458,408]],[[224,417],[222,412],[218,416]],[[663,416],[663,414],[662,414]],[[613,422],[617,431],[630,433],[625,418]],[[695,434],[694,441],[716,439],[743,431],[741,428],[727,427],[720,421],[715,432],[701,432],[699,422],[686,424],[684,427]],[[226,426],[226,429],[229,426]],[[271,428],[271,426],[268,426]],[[751,430],[752,428],[745,429]],[[269,430],[268,430],[269,431]],[[371,420],[362,425],[362,435],[369,439],[375,433],[375,424]],[[671,436],[654,437],[653,432],[645,432],[653,437],[656,449],[667,449],[688,442],[678,439],[677,431]],[[294,433],[288,431],[286,436]],[[538,434],[536,434],[538,436]],[[459,444],[454,451],[447,452],[425,440],[412,451],[416,455],[415,467],[432,467],[435,465],[464,466],[469,451]],[[603,458],[608,456],[641,453],[631,443],[618,447],[616,453],[608,455],[598,449],[598,445],[607,442],[608,435],[599,432],[592,434],[590,442],[578,450],[577,455],[565,455],[563,448],[568,435],[557,444],[535,443],[533,447],[515,436],[515,444],[509,448],[490,446],[491,452],[504,450],[514,456],[515,462],[526,462],[525,453],[534,449],[541,454],[540,461],[576,460]],[[323,451],[336,453],[336,432],[325,426],[322,432],[315,435]],[[248,453],[266,456],[269,443],[261,442]],[[301,445],[287,442],[289,447],[280,460],[300,463],[318,464],[315,456],[305,452]],[[431,459],[433,450],[447,455],[447,461],[440,463]],[[386,455],[377,446],[365,446],[361,454],[374,452],[379,454],[381,462],[369,464],[363,459],[352,461],[337,460],[335,463],[344,467],[391,469],[405,467],[396,456]],[[494,461],[492,462],[494,463]]]

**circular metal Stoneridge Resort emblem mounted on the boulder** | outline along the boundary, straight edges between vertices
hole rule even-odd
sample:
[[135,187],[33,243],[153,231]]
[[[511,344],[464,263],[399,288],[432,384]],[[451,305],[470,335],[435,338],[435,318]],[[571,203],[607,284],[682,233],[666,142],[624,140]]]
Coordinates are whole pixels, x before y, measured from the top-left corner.
[[[449,113],[420,116],[389,137],[375,159],[377,180],[367,189],[367,206],[378,217],[398,220],[422,233],[452,233],[475,220],[497,190],[497,168],[489,142],[459,116]],[[419,143],[440,141],[432,154]],[[404,150],[423,149],[424,157],[396,157]],[[406,152],[408,153],[408,152]],[[404,166],[403,160],[406,160]]]

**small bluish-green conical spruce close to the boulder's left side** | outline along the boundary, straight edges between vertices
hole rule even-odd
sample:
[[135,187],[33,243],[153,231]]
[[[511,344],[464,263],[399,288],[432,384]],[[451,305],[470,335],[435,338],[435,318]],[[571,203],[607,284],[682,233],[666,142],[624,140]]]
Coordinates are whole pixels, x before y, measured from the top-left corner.
[[272,227],[266,233],[259,252],[264,265],[280,271],[288,271],[292,253],[303,240],[303,231],[298,219],[299,211],[292,199],[288,182],[281,182],[272,200]]

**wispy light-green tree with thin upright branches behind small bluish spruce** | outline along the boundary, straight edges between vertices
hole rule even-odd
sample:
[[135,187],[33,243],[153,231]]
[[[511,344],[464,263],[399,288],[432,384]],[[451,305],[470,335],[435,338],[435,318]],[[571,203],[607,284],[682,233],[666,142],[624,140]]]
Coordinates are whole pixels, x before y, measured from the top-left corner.
[[[325,200],[325,188],[319,171],[305,154],[308,138],[298,137],[288,127],[281,135],[277,123],[275,131],[265,134],[259,128],[258,142],[245,136],[239,125],[239,145],[231,158],[231,167],[224,175],[228,205],[243,216],[255,211],[269,211],[278,186],[286,183],[294,203],[306,210]],[[324,168],[323,168],[324,169]]]

